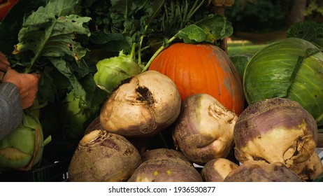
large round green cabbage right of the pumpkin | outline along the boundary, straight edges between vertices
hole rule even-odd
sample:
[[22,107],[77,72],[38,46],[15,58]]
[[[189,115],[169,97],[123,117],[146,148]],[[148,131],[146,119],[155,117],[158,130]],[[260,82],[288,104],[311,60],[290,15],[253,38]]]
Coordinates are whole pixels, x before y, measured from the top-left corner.
[[284,38],[261,48],[243,74],[248,104],[273,97],[299,102],[323,125],[323,53],[301,38]]

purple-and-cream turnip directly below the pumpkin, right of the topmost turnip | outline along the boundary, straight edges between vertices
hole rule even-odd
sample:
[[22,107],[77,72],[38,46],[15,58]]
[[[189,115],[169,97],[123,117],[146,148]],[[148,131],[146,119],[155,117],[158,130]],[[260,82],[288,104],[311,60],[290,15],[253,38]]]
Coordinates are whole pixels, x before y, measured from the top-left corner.
[[189,160],[203,165],[226,158],[234,141],[238,117],[209,94],[193,94],[182,102],[173,141]]

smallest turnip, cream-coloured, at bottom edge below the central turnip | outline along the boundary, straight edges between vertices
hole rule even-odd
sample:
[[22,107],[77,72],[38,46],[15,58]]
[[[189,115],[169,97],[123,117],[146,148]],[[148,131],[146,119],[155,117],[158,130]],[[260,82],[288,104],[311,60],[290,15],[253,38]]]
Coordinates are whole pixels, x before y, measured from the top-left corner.
[[239,166],[224,158],[210,160],[204,165],[201,176],[206,182],[223,182],[225,177]]

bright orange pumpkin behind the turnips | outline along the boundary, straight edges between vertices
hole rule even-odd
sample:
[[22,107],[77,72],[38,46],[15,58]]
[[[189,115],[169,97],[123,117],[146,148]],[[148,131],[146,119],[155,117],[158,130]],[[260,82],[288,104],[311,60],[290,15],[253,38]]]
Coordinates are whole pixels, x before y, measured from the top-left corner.
[[227,53],[216,45],[174,43],[162,50],[148,69],[171,78],[182,100],[192,94],[206,93],[236,114],[244,109],[238,71]]

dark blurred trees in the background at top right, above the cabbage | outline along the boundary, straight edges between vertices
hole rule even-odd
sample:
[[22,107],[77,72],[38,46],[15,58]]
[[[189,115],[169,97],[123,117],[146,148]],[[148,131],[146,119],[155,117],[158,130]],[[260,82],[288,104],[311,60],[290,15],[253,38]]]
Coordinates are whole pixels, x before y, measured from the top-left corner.
[[225,15],[234,32],[268,33],[303,20],[323,22],[323,0],[236,0]]

